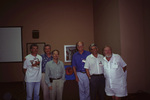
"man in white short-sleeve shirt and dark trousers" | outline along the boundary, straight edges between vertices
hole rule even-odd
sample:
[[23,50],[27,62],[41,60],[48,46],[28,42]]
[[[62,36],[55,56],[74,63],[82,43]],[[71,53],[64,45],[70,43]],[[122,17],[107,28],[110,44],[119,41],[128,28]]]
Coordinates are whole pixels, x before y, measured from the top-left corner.
[[[98,54],[98,48],[95,44],[90,45],[92,54],[87,56],[85,66],[87,76],[90,80],[91,100],[105,99],[105,78],[103,75],[103,56]],[[97,96],[98,94],[98,96]]]

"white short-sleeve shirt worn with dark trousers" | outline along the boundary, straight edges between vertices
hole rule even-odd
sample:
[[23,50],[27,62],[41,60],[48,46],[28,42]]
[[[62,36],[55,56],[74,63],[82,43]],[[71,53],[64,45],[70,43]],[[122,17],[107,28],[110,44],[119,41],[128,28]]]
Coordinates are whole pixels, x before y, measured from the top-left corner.
[[86,58],[84,68],[89,69],[90,75],[103,74],[103,56],[98,54],[96,58],[93,54],[90,54]]

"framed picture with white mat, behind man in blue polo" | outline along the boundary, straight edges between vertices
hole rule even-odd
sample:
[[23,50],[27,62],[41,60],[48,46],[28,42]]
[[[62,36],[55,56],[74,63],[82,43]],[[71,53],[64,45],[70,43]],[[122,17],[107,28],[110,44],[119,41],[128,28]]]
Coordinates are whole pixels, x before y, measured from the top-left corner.
[[64,45],[65,62],[71,62],[75,52],[77,52],[76,45]]

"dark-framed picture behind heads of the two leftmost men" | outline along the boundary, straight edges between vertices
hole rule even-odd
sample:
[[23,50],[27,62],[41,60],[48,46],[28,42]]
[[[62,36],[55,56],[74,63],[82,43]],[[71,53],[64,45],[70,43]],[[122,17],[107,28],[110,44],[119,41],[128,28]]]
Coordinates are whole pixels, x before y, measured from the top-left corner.
[[41,55],[44,53],[43,47],[45,45],[45,42],[35,42],[35,43],[26,43],[26,54],[30,54],[30,46],[31,44],[37,44],[38,45],[38,54]]

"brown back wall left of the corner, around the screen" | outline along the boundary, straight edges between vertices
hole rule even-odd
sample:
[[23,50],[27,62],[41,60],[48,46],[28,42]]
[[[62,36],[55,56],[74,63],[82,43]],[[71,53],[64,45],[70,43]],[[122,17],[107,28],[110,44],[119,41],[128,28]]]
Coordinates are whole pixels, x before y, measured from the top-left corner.
[[[0,13],[0,26],[23,26],[24,56],[26,43],[46,42],[60,50],[64,61],[64,45],[81,40],[87,50],[94,42],[92,0],[9,1]],[[32,39],[32,30],[40,31],[39,39]],[[0,63],[0,82],[22,80],[22,63]]]

